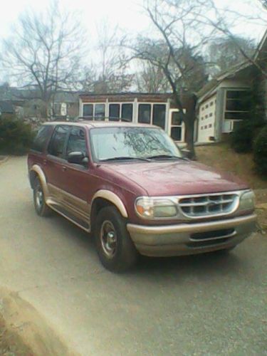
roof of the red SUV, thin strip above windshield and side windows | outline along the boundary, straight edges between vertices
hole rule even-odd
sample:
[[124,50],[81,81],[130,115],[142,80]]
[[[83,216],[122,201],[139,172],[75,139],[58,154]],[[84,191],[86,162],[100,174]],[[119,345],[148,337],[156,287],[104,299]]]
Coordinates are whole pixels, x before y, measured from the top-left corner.
[[160,128],[155,125],[150,124],[135,124],[132,122],[110,122],[110,121],[87,121],[87,120],[79,120],[79,121],[51,121],[44,122],[43,125],[70,125],[70,126],[81,126],[81,127],[155,127]]

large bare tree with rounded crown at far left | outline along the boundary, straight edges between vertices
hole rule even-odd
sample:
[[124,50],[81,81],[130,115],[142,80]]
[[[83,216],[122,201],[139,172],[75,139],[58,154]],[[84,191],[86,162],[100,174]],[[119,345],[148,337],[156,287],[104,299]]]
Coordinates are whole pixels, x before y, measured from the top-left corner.
[[13,35],[3,44],[1,61],[10,78],[35,89],[34,98],[43,100],[48,113],[56,92],[73,87],[84,48],[80,23],[54,2],[44,13],[21,15]]

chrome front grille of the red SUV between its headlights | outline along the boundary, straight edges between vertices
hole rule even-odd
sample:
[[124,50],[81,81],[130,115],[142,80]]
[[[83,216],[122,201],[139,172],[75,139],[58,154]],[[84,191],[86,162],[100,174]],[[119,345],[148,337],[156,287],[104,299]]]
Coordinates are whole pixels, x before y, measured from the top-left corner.
[[205,217],[230,214],[239,204],[239,195],[233,193],[204,194],[179,199],[185,216]]

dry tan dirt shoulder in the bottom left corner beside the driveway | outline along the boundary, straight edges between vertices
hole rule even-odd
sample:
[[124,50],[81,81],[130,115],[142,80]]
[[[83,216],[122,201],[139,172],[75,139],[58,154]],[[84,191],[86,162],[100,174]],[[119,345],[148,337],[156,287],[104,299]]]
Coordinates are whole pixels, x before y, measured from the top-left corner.
[[61,356],[70,352],[61,337],[18,293],[0,288],[0,355]]

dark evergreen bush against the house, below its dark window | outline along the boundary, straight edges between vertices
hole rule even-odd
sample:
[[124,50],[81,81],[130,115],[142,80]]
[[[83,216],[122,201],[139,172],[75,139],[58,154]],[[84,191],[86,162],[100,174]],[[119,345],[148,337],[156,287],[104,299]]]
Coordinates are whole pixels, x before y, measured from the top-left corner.
[[242,121],[231,134],[231,147],[238,153],[252,152],[254,139],[262,126],[262,120]]

